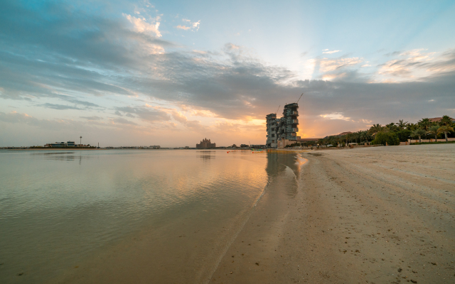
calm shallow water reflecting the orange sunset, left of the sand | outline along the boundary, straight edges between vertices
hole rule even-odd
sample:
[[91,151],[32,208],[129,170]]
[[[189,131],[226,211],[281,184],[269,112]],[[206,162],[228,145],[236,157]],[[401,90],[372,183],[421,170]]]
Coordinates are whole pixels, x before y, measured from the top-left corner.
[[1,151],[0,280],[47,283],[144,235],[162,239],[154,253],[179,249],[170,273],[179,259],[193,263],[194,280],[207,278],[267,182],[297,170],[295,160],[251,151]]

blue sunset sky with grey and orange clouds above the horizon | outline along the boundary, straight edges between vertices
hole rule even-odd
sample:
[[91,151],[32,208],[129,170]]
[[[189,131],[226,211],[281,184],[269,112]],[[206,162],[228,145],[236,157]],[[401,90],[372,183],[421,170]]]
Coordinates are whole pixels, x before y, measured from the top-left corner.
[[[455,1],[20,1],[0,9],[0,146],[264,144],[455,117]],[[277,110],[278,109],[278,110]]]

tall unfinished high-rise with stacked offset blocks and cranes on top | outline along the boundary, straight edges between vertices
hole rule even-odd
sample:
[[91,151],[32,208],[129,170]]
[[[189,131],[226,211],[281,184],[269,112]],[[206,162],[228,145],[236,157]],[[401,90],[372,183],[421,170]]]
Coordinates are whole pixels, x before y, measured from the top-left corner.
[[277,148],[280,145],[294,143],[300,140],[297,136],[299,131],[299,104],[286,104],[283,109],[283,117],[277,119],[277,114],[265,116],[267,123],[267,147]]

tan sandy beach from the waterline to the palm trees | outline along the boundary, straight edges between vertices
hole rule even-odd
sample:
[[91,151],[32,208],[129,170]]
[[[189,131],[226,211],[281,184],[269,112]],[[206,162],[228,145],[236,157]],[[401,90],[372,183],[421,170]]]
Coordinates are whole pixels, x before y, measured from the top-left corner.
[[298,190],[265,192],[210,283],[455,283],[455,145],[303,157]]

